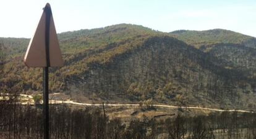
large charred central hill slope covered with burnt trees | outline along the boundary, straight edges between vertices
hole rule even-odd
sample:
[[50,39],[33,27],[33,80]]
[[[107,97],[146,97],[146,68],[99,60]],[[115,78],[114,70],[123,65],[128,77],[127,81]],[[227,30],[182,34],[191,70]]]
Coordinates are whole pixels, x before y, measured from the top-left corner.
[[155,36],[132,52],[113,57],[111,63],[93,63],[71,82],[79,82],[73,87],[78,92],[120,94],[135,101],[155,98],[190,105],[240,104],[239,99],[245,98],[239,82],[246,77],[211,62],[220,61],[184,42]]

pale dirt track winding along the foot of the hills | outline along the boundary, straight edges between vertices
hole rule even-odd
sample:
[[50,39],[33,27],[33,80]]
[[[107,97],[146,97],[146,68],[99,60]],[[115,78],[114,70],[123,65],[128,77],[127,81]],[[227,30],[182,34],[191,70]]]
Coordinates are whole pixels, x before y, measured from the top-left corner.
[[[33,98],[31,95],[23,95],[20,94],[23,97],[29,97]],[[74,102],[74,101],[61,101],[61,100],[50,100],[49,103],[51,104],[60,104],[60,103],[68,103],[68,104],[74,104],[74,105],[84,105],[84,106],[102,106],[102,104],[92,104],[92,103],[79,103],[79,102]],[[22,104],[27,104],[27,103],[22,103]],[[117,103],[117,104],[110,104],[106,103],[105,106],[139,106],[139,104],[122,104],[122,103]],[[173,106],[173,105],[151,105],[154,107],[165,107],[165,108],[184,108],[184,109],[201,109],[201,110],[208,110],[208,111],[237,111],[241,113],[255,113],[254,111],[245,111],[242,109],[215,109],[215,108],[202,108],[198,106]]]

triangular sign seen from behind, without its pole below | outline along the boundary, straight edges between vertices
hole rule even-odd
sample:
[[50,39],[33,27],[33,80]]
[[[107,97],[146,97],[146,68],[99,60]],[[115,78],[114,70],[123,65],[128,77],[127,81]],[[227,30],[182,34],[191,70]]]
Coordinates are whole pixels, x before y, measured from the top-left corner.
[[46,4],[35,34],[30,39],[24,63],[28,67],[64,65],[49,4]]

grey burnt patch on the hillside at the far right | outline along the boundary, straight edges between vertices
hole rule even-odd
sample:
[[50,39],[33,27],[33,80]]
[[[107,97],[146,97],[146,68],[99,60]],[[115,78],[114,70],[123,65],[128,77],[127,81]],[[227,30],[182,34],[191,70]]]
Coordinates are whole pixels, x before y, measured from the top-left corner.
[[[203,47],[201,50],[205,51]],[[256,49],[239,44],[216,44],[206,53],[223,61],[223,63],[216,63],[217,65],[239,70],[247,77],[255,78]]]

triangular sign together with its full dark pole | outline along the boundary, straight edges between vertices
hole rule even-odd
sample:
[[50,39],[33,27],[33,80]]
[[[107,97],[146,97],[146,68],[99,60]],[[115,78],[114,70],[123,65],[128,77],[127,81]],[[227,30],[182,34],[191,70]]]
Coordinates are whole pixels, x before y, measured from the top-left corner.
[[49,67],[63,66],[59,41],[54,26],[51,6],[43,9],[35,34],[30,39],[24,63],[28,67],[43,68],[43,127],[44,138],[49,138]]

